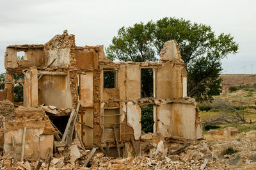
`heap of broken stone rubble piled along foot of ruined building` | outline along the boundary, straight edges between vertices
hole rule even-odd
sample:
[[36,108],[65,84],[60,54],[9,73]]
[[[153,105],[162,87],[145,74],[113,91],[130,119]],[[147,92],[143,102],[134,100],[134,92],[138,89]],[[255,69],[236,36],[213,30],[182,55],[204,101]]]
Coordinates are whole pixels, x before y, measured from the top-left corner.
[[[184,144],[164,141],[159,134],[151,134],[152,139],[144,139],[141,143],[141,155],[134,155],[132,147],[126,151],[129,157],[104,157],[97,150],[85,167],[84,162],[90,150],[84,150],[79,141],[74,139],[67,148],[67,153],[55,153],[51,162],[41,162],[40,169],[228,169],[227,163],[221,163],[214,155],[213,148],[206,141],[186,143],[186,148],[177,154]],[[159,139],[159,140],[158,140]],[[131,143],[129,143],[131,144]],[[132,155],[133,154],[133,155]],[[44,161],[44,160],[43,160]],[[36,169],[38,162],[14,162],[6,156],[2,157],[1,169]]]

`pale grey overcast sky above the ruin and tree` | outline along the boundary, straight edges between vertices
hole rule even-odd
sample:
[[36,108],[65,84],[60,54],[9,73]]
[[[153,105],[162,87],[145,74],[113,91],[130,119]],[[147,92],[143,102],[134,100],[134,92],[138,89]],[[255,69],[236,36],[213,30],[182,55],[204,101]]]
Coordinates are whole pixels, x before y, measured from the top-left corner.
[[223,59],[223,73],[256,73],[255,0],[0,0],[0,73],[6,46],[44,44],[67,29],[76,45],[108,47],[122,26],[177,17],[230,33],[239,53]]

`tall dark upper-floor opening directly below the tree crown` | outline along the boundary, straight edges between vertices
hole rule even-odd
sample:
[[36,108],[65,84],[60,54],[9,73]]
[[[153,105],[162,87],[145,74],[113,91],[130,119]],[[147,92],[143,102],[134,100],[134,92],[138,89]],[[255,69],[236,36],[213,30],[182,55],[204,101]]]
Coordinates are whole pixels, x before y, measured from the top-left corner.
[[141,68],[141,98],[154,97],[153,68]]

